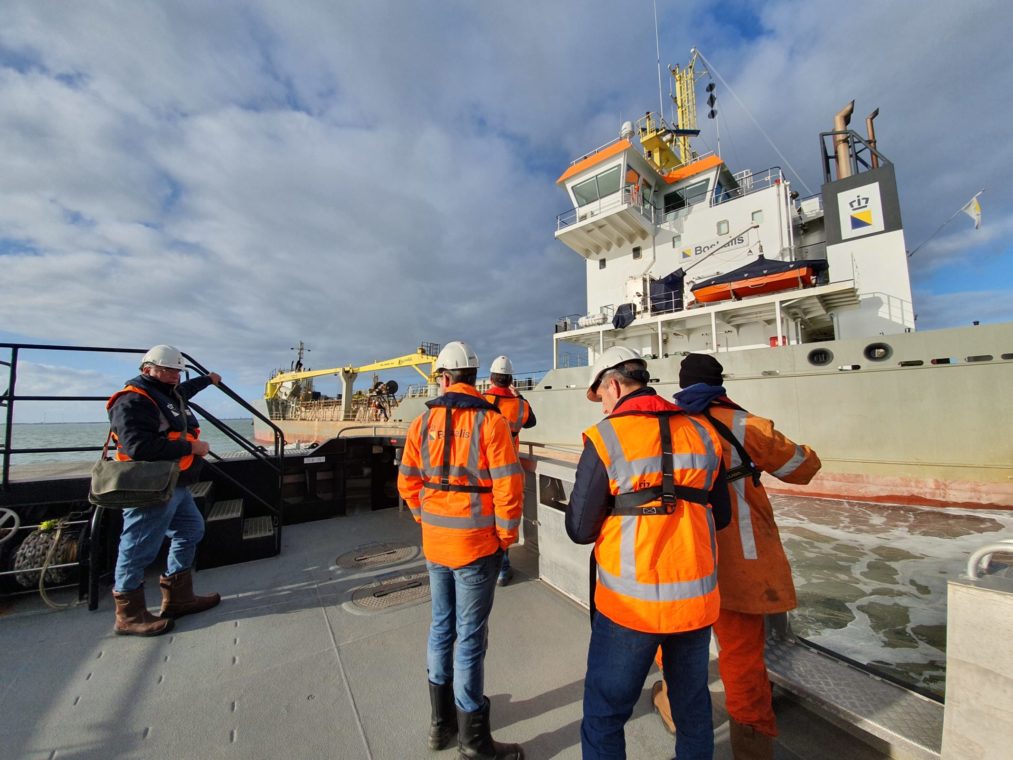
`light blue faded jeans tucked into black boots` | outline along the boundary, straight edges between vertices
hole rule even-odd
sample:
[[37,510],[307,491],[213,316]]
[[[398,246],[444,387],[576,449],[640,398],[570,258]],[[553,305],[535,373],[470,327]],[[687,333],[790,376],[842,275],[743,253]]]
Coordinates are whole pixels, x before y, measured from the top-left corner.
[[457,568],[425,562],[433,595],[425,656],[430,681],[453,681],[454,701],[465,712],[485,706],[485,649],[501,561],[502,552],[496,551]]

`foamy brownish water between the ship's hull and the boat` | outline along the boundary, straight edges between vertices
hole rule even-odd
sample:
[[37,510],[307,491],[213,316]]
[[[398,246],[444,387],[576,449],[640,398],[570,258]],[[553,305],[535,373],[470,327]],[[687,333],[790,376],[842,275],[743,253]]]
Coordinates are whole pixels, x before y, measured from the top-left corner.
[[1013,536],[1013,512],[772,497],[791,561],[794,632],[943,695],[946,583]]

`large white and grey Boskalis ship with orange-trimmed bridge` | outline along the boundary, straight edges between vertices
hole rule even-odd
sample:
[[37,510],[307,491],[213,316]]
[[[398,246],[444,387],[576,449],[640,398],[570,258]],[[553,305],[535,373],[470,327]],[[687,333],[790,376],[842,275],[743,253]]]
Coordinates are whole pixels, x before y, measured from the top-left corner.
[[[995,392],[1013,383],[1013,323],[916,329],[878,108],[864,136],[850,128],[854,101],[828,119],[823,185],[802,197],[780,167],[732,171],[694,149],[701,60],[694,51],[671,69],[672,124],[650,111],[626,122],[557,179],[569,208],[555,239],[585,261],[587,311],[552,325],[551,369],[524,391],[538,425],[522,442],[579,448],[599,417],[583,394],[588,365],[613,346],[647,359],[668,397],[682,359],[706,353],[731,398],[820,453],[824,468],[803,492],[1013,507],[1013,439],[1000,433],[1013,399]],[[411,388],[391,419],[410,421],[432,393]],[[341,425],[271,416],[295,441]]]

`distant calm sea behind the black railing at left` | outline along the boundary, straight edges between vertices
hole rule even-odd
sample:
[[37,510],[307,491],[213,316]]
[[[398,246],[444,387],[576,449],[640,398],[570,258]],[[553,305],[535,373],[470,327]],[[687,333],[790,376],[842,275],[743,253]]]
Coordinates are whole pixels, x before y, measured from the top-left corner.
[[[225,422],[247,441],[253,440],[253,420],[226,420]],[[108,423],[15,423],[11,428],[12,449],[41,449],[51,446],[97,446],[105,442],[109,432]],[[6,436],[6,426],[0,425],[0,442]],[[201,438],[211,445],[216,454],[239,451],[240,447],[220,433],[210,423],[201,427]],[[98,451],[47,452],[45,454],[12,454],[12,465],[48,464],[52,462],[72,462],[98,459]]]

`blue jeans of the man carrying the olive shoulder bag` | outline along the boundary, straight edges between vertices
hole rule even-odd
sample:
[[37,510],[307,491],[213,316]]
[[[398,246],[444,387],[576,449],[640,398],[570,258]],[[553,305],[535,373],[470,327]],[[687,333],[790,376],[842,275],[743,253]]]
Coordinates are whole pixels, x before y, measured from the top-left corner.
[[204,518],[185,486],[177,487],[164,507],[124,510],[113,591],[134,591],[144,583],[144,571],[166,536],[170,542],[165,575],[173,576],[193,564],[197,545],[204,538]]

